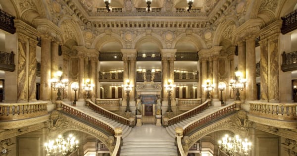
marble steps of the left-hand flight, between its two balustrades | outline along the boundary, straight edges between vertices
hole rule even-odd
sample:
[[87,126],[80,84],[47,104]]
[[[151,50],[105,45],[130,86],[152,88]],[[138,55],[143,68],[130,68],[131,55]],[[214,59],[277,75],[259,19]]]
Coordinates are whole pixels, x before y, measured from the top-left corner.
[[88,106],[78,106],[76,108],[82,110],[84,113],[86,113],[88,115],[92,115],[92,116],[94,116],[96,118],[99,118],[101,120],[104,120],[104,121],[108,122],[114,128],[116,128],[116,127],[122,127],[123,128],[123,136],[122,136],[123,138],[126,137],[130,133],[130,131],[132,129],[132,127],[130,127],[128,125],[119,123],[117,121],[114,121],[114,120],[112,120],[112,119],[110,119],[108,117],[105,117],[105,116],[99,114],[98,112],[94,111],[92,108],[90,108]]

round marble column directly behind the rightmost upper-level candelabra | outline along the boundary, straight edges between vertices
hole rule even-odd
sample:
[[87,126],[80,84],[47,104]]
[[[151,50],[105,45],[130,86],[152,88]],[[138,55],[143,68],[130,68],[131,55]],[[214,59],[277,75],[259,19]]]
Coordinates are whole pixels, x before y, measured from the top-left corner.
[[[239,41],[238,43],[238,71],[243,73],[243,78],[246,78],[246,42]],[[254,61],[255,63],[255,61]],[[246,101],[246,89],[240,91],[240,99]]]

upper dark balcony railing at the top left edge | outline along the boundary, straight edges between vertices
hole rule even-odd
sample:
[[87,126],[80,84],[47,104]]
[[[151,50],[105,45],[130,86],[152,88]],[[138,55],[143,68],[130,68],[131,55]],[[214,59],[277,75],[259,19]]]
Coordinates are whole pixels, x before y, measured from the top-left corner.
[[14,16],[0,9],[0,29],[14,34],[15,27],[13,19],[15,19]]

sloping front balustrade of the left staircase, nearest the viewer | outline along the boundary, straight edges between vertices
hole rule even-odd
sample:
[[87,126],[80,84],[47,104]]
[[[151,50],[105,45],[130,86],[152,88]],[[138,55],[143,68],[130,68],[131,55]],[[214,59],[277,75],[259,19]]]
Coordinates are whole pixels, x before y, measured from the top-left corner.
[[72,105],[66,104],[64,102],[61,103],[61,108],[63,111],[65,111],[68,114],[80,117],[82,119],[87,120],[88,122],[90,122],[92,124],[95,124],[96,126],[101,127],[105,131],[111,133],[111,135],[115,134],[114,127],[104,120],[98,119],[93,115],[86,114],[86,113],[82,112],[81,110],[79,110],[78,108],[76,108]]

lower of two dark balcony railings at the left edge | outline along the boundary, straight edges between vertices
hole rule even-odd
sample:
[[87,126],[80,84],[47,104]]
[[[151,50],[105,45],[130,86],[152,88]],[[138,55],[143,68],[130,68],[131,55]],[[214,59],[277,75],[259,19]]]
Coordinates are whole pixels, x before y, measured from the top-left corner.
[[14,71],[14,53],[0,51],[0,70]]

